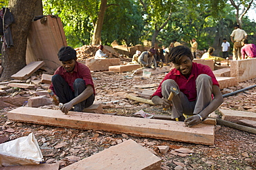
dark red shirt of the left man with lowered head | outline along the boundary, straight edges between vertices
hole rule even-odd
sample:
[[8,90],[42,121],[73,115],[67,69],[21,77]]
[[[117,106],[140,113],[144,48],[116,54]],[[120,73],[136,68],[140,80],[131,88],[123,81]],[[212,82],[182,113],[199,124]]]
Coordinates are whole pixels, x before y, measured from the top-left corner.
[[[82,63],[78,63],[75,61],[75,68],[72,73],[66,72],[64,67],[58,67],[57,70],[55,71],[55,74],[60,74],[65,81],[68,83],[69,87],[71,87],[72,91],[74,92],[73,84],[75,82],[76,78],[82,78],[85,82],[85,85],[91,85],[93,87],[93,94],[95,94],[95,88],[93,84],[93,79],[91,78],[91,71],[89,70],[89,67]],[[51,86],[49,89],[53,90],[53,83],[51,83]],[[55,93],[55,92],[54,92]]]

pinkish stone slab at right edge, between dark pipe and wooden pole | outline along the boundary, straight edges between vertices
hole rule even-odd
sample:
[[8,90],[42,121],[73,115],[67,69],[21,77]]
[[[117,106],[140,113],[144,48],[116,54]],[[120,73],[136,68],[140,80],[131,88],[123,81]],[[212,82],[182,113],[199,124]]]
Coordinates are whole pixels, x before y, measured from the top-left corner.
[[219,111],[221,111],[223,120],[227,120],[232,123],[237,123],[239,120],[243,120],[243,119],[256,121],[255,112],[226,110],[226,109],[219,109]]

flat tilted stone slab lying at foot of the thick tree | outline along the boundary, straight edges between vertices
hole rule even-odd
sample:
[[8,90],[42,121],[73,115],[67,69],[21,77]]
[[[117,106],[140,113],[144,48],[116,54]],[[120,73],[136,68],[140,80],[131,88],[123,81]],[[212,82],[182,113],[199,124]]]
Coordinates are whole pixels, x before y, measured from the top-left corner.
[[34,72],[44,65],[44,61],[33,61],[19,70],[16,74],[10,76],[11,78],[17,78],[18,80],[28,79]]

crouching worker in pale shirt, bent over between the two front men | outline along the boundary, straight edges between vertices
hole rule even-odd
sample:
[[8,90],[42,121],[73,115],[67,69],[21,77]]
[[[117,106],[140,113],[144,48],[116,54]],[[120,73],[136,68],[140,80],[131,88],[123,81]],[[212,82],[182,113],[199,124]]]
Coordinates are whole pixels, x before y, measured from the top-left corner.
[[154,64],[153,69],[156,70],[156,59],[154,58],[155,54],[156,50],[154,48],[151,48],[149,52],[142,52],[138,57],[138,63],[141,67],[146,68],[152,68],[152,64]]

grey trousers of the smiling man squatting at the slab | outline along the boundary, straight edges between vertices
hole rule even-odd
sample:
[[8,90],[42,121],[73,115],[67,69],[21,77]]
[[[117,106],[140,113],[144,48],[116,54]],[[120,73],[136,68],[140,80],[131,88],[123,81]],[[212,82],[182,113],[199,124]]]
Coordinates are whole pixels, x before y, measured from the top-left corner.
[[[171,87],[176,87],[179,90],[179,86],[172,79],[168,79],[162,83],[163,98],[168,98]],[[187,96],[179,90],[179,94],[174,95],[174,98],[172,98],[172,118],[179,118],[182,114],[199,114],[210,104],[212,100],[212,78],[210,76],[200,74],[196,78],[196,94],[196,100],[189,101]]]

